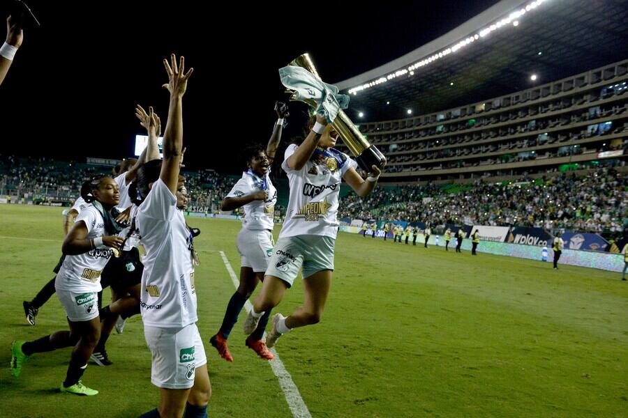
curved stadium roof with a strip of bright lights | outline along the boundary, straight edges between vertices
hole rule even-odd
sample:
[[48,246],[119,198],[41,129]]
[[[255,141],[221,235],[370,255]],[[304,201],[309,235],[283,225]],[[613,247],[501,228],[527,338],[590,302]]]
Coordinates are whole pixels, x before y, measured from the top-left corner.
[[[513,15],[522,9],[523,15]],[[371,83],[351,94],[355,122],[407,118],[408,109],[412,116],[450,109],[625,59],[627,22],[625,0],[502,0],[440,38],[336,85],[347,93]],[[424,61],[452,47],[456,52]]]

